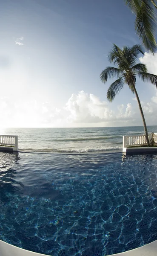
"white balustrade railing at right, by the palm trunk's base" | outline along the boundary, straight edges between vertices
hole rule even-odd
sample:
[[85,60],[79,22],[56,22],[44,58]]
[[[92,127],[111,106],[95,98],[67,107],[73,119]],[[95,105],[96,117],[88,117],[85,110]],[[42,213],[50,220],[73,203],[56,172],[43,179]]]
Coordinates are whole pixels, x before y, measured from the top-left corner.
[[[151,139],[151,134],[148,134],[149,141]],[[131,146],[142,146],[147,145],[147,140],[145,135],[130,135],[130,136],[123,136],[123,148],[131,147]]]

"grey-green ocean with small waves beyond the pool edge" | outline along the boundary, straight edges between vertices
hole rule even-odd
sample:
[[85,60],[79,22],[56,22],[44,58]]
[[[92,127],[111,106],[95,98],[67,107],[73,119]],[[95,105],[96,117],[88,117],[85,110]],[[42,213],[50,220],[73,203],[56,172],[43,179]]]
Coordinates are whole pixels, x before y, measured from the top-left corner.
[[[157,132],[157,126],[148,126]],[[123,135],[144,134],[143,126],[101,128],[4,128],[0,134],[18,135],[19,150],[47,153],[121,151]]]

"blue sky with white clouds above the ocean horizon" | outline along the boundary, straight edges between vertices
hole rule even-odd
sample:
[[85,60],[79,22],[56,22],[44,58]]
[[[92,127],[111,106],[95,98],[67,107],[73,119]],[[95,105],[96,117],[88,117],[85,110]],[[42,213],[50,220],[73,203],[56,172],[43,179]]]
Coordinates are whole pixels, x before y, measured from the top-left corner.
[[[112,103],[100,81],[112,44],[140,44],[123,0],[0,0],[0,126],[142,125],[128,86]],[[157,74],[157,53],[139,55]],[[147,125],[157,89],[137,79]]]

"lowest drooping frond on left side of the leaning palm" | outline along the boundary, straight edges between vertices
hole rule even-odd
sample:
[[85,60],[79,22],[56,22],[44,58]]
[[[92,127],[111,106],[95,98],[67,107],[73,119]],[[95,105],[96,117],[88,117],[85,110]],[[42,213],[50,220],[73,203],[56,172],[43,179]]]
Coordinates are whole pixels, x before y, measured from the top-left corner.
[[124,81],[123,78],[120,77],[116,81],[114,81],[107,90],[107,99],[112,102],[115,96],[123,89]]

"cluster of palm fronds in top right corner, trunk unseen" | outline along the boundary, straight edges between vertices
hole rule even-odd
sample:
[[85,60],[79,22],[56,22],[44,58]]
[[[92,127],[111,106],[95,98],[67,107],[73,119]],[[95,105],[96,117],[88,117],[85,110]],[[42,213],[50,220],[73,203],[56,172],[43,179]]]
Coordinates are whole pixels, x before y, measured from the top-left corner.
[[135,30],[141,39],[143,46],[153,54],[157,50],[155,32],[157,18],[157,0],[124,0],[128,7],[136,15]]

